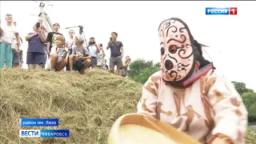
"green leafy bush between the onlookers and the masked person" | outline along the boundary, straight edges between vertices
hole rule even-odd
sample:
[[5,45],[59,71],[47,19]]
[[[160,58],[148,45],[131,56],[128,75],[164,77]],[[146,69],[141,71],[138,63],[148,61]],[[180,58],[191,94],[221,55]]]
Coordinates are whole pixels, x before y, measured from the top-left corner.
[[130,70],[128,76],[135,82],[144,84],[150,75],[160,70],[160,63],[154,64],[153,61],[145,61],[144,59],[137,59],[130,63]]

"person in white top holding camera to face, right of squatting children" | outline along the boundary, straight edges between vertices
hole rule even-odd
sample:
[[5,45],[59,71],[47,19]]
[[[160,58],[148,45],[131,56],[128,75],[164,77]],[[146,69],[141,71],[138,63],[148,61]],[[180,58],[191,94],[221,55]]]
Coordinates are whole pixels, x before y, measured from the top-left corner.
[[91,68],[94,68],[94,66],[97,66],[97,55],[100,52],[94,37],[90,38],[90,42],[89,42],[89,45],[87,46],[87,49],[89,50],[90,57],[91,57],[90,66]]

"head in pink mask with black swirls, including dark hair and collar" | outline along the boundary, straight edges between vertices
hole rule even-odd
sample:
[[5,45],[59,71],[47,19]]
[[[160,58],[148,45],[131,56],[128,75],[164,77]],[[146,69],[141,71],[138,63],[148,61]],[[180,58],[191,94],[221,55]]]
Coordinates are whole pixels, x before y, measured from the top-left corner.
[[159,28],[162,79],[172,86],[186,87],[213,68],[202,57],[201,45],[179,18],[161,22]]

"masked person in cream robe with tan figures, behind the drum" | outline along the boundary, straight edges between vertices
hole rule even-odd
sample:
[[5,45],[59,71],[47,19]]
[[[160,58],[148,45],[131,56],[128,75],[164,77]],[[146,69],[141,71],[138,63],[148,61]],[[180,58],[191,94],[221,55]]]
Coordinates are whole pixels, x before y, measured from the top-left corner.
[[161,70],[142,87],[138,114],[202,143],[246,142],[247,110],[234,85],[202,57],[202,46],[179,18],[158,27]]

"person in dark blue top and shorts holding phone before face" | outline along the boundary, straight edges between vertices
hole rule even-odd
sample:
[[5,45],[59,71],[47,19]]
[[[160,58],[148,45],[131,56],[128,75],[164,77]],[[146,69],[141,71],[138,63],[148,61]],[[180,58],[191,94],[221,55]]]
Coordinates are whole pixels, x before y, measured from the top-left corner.
[[26,64],[28,64],[29,69],[33,69],[33,64],[35,68],[40,68],[40,65],[45,61],[45,42],[46,35],[42,34],[42,28],[37,28],[34,25],[34,33],[26,35],[26,41],[28,41],[29,46],[27,49]]

